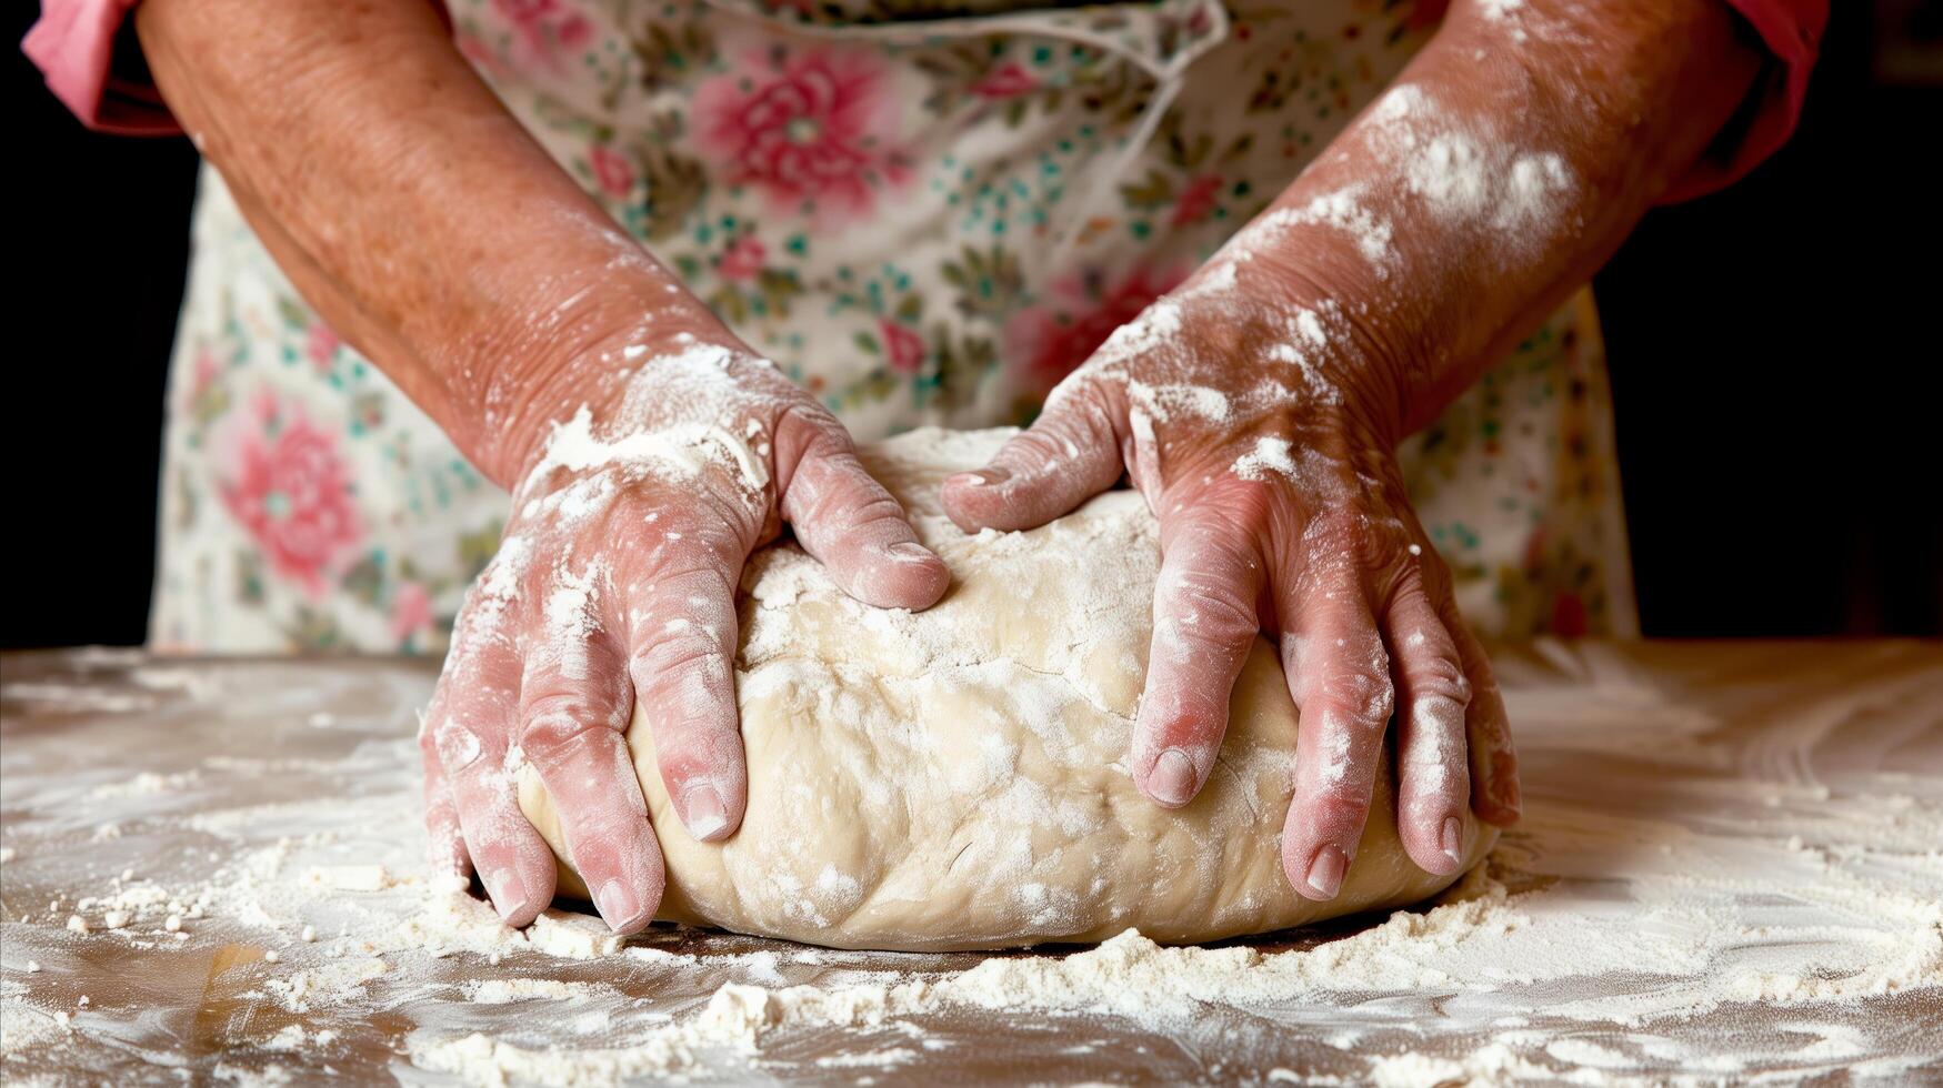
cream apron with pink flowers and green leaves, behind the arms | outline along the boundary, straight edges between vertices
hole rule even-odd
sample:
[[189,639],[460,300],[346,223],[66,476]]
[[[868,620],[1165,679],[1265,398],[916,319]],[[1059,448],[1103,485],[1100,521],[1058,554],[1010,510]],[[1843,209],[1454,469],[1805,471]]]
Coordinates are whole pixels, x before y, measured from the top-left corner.
[[[1409,2],[453,0],[562,167],[859,439],[1024,424],[1434,25]],[[152,639],[443,649],[507,497],[204,171]],[[1483,631],[1634,631],[1582,293],[1403,449]]]

